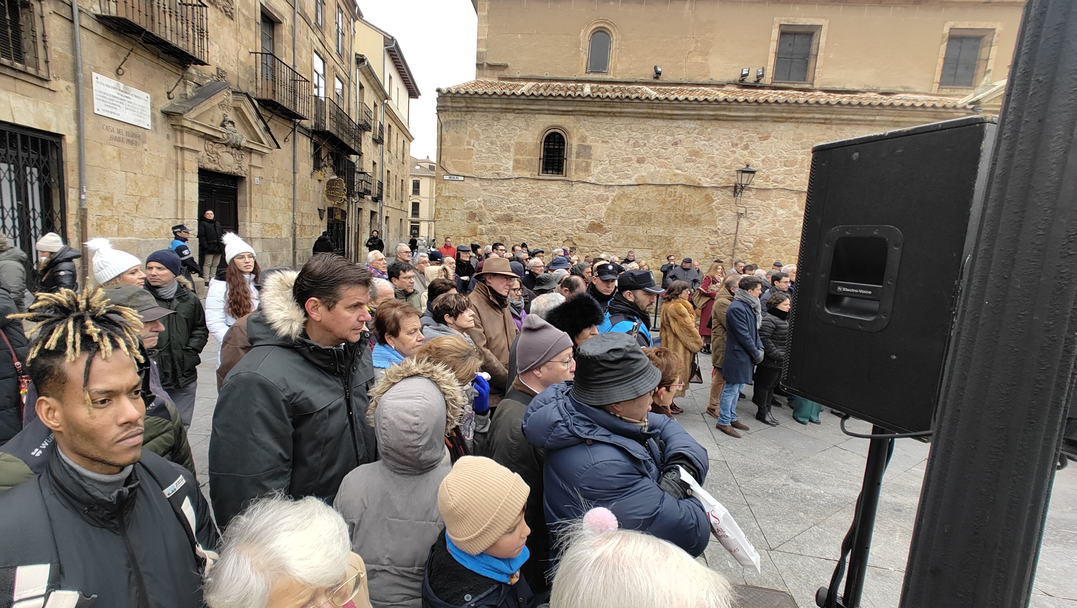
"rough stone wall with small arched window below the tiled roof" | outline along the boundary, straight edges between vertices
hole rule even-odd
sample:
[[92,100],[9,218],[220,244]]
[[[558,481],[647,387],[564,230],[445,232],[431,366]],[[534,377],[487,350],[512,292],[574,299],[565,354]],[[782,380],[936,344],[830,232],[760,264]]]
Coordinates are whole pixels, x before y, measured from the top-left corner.
[[[799,248],[813,145],[967,113],[861,112],[731,115],[443,94],[438,237],[526,241],[546,251],[575,244],[583,254],[633,250],[653,268],[668,254],[744,258],[766,268],[775,259],[789,264]],[[551,127],[568,136],[564,176],[538,174],[540,142]],[[758,173],[742,197],[738,228],[732,184],[745,162]],[[464,179],[446,181],[445,174]]]

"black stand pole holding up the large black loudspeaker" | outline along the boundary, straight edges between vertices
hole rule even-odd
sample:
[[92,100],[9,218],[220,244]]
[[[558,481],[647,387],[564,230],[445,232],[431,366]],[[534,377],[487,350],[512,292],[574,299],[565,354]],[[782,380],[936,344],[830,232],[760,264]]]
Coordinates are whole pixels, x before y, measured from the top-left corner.
[[[894,436],[880,426],[871,427],[871,444],[868,447],[868,461],[864,469],[864,485],[856,499],[856,514],[853,525],[841,542],[841,557],[830,578],[830,586],[821,586],[815,592],[815,605],[819,608],[859,608],[861,596],[864,595],[864,578],[868,571],[868,554],[871,550],[871,534],[875,529],[876,513],[879,511],[879,495],[882,492],[882,476],[890,464],[894,449]],[[849,575],[845,577],[845,591],[838,596],[838,585],[845,570],[845,556],[849,556]]]

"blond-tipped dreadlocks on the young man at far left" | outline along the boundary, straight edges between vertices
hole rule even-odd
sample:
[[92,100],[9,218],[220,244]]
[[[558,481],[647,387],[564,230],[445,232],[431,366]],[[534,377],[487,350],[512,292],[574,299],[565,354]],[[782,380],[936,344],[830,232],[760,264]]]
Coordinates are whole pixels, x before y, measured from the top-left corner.
[[108,359],[113,349],[141,363],[139,330],[142,320],[138,312],[111,303],[100,288],[82,293],[60,289],[56,294],[36,294],[29,312],[12,314],[37,325],[30,331],[30,351],[26,357],[27,373],[38,393],[58,397],[66,381],[62,363],[86,355],[82,387],[89,395],[89,366],[98,354]]

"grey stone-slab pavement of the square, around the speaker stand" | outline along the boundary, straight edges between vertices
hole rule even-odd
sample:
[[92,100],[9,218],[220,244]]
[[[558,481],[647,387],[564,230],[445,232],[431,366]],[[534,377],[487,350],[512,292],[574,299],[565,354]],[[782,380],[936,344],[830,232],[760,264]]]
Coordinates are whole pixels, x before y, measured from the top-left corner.
[[[841,539],[853,519],[864,476],[868,440],[848,437],[838,419],[823,410],[822,425],[798,424],[788,408],[773,410],[780,426],[756,422],[755,406],[741,400],[738,412],[752,430],[733,439],[714,428],[704,413],[710,393],[710,357],[701,356],[704,384],[691,384],[677,399],[681,424],[710,454],[704,487],[732,513],[759,550],[761,572],[741,568],[712,541],[704,558],[736,584],[789,592],[800,608],[815,606],[815,590],[829,583]],[[188,432],[207,490],[209,432],[216,401],[216,342],[210,340],[198,368],[198,399]],[[751,397],[751,386],[745,391]],[[850,421],[855,433],[870,425]],[[928,446],[900,439],[883,479],[865,608],[898,605]],[[207,492],[208,495],[208,492]],[[1032,608],[1077,608],[1077,465],[1059,471],[1040,549]]]

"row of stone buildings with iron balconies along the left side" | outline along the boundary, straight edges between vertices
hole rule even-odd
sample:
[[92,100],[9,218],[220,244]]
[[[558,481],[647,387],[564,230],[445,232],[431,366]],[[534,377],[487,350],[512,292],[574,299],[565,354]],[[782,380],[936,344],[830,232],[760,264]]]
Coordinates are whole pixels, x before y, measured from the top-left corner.
[[404,236],[376,161],[419,90],[353,0],[79,0],[84,202],[71,4],[0,4],[0,230],[31,259],[50,230],[144,257],[206,209],[263,268],[322,230],[349,256],[372,224]]

